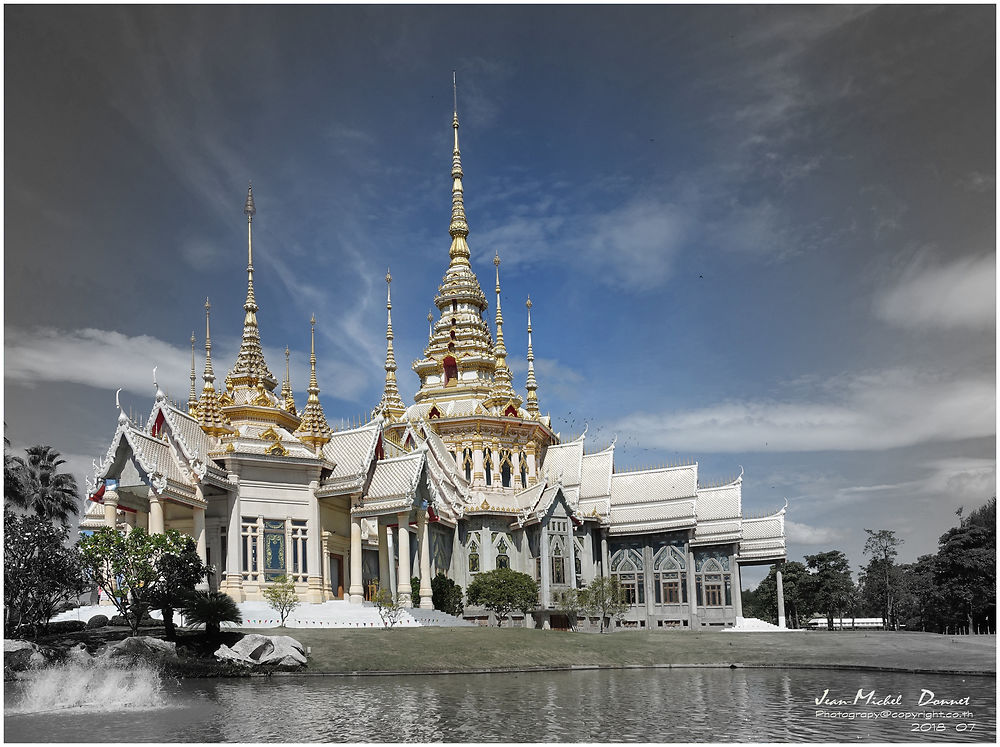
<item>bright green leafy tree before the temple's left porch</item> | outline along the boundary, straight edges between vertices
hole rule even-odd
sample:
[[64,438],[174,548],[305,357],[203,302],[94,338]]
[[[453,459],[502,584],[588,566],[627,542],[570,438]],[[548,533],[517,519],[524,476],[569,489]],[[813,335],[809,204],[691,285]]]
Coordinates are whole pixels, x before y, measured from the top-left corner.
[[189,542],[190,537],[174,529],[149,534],[136,527],[126,534],[102,527],[81,538],[78,546],[84,569],[111,598],[132,635],[138,635],[147,612],[173,592],[170,585],[176,579],[164,573],[162,558],[183,555]]

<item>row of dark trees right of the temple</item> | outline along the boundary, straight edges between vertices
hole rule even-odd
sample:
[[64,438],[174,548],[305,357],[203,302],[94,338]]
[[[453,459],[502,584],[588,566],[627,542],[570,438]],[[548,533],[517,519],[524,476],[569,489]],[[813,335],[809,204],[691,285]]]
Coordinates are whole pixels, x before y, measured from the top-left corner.
[[[972,513],[958,510],[959,525],[941,535],[938,551],[897,564],[903,540],[889,529],[866,529],[857,582],[841,550],[806,555],[781,565],[786,621],[803,627],[817,615],[881,617],[886,629],[935,633],[996,632],[996,497]],[[743,614],[777,622],[772,566],[756,589],[743,592]]]

